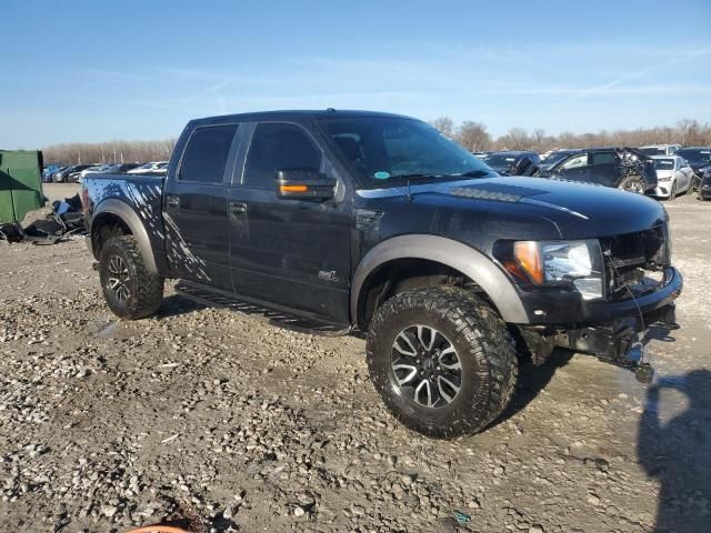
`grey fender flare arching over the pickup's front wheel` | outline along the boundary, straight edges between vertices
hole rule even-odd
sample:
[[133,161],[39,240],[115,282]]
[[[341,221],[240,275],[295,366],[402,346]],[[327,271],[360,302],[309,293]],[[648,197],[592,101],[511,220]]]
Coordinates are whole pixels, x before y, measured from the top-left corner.
[[397,259],[424,259],[445,264],[470,278],[487,293],[504,322],[528,324],[525,312],[511,280],[487,255],[444,237],[410,234],[393,237],[372,248],[361,260],[351,283],[351,320],[359,320],[370,275]]

